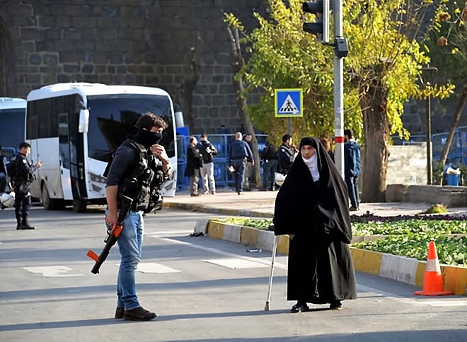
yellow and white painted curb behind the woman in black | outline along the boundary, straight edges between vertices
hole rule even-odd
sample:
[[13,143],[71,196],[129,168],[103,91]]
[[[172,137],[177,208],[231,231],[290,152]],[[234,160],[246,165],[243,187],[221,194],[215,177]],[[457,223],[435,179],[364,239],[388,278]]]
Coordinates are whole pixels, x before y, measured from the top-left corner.
[[[244,244],[246,246],[272,251],[274,232],[258,230],[239,225],[228,225],[216,220],[206,219],[198,221],[195,232],[207,234],[220,240]],[[279,235],[277,252],[289,253],[289,237]],[[374,274],[384,278],[390,278],[402,283],[423,287],[425,267],[427,261],[401,257],[393,254],[367,251],[350,247],[355,271]],[[445,290],[452,291],[454,295],[467,295],[467,267],[441,264],[441,273]]]

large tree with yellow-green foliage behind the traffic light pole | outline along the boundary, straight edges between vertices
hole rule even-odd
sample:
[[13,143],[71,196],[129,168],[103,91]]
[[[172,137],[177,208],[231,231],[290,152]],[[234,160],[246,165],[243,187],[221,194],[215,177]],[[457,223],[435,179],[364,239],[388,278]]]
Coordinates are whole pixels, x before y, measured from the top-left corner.
[[[277,140],[284,125],[270,114],[274,89],[303,88],[304,117],[294,119],[293,134],[332,136],[333,51],[301,29],[310,19],[304,18],[302,1],[289,0],[288,6],[282,0],[268,2],[270,20],[255,13],[259,28],[243,33],[251,55],[241,71],[246,94],[254,88],[265,93],[248,113]],[[384,201],[390,136],[408,136],[400,119],[406,100],[427,94],[442,98],[452,88],[434,85],[420,90],[417,84],[422,66],[429,62],[418,43],[425,35],[420,23],[427,2],[344,2],[344,33],[350,46],[345,59],[345,126],[364,142],[363,201]],[[230,25],[241,25],[235,17],[227,18]]]

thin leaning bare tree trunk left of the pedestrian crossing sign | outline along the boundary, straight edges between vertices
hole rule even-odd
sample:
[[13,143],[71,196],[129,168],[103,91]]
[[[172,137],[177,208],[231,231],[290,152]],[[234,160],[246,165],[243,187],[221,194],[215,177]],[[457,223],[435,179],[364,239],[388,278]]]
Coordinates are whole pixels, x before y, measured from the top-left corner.
[[243,97],[243,78],[236,79],[236,74],[241,71],[243,66],[245,66],[245,59],[243,59],[243,54],[241,52],[240,47],[240,39],[238,37],[238,29],[233,28],[233,30],[227,26],[227,30],[229,31],[229,36],[231,39],[231,47],[233,53],[233,88],[236,92],[237,97],[237,107],[238,107],[238,115],[241,117],[241,121],[243,127],[246,130],[246,133],[250,133],[252,136],[251,142],[253,143],[253,157],[255,161],[255,184],[256,187],[262,186],[261,181],[261,174],[260,174],[260,153],[258,152],[258,139],[256,138],[255,129],[253,128],[253,123],[248,117],[248,113],[246,112],[246,98]]

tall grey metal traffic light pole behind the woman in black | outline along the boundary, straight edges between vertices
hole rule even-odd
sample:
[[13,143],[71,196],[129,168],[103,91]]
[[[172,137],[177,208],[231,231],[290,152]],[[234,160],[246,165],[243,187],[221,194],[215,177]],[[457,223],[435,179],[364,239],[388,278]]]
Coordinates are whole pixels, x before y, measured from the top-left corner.
[[[342,0],[334,0],[334,37],[342,38]],[[344,59],[338,57],[335,47],[334,57],[334,136],[335,166],[344,177]]]

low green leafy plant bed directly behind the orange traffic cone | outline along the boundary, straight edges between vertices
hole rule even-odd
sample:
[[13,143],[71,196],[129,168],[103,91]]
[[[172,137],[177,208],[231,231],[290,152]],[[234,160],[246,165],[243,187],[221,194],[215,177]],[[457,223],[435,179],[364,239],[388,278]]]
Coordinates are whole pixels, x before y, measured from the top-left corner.
[[427,242],[436,242],[438,259],[441,264],[467,266],[467,237],[436,237],[420,233],[391,235],[384,240],[357,242],[353,247],[374,252],[403,255],[418,260],[427,259]]

